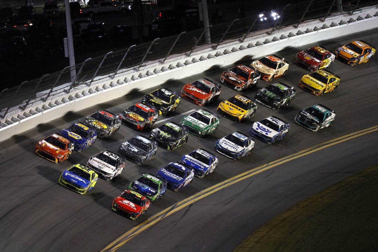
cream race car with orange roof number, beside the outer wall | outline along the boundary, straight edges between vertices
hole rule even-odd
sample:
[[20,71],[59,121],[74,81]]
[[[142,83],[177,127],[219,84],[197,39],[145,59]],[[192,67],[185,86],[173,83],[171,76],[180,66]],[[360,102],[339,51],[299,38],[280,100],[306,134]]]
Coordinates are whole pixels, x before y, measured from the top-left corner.
[[277,55],[265,56],[251,63],[251,67],[260,73],[260,79],[271,81],[286,74],[289,68],[289,62]]

